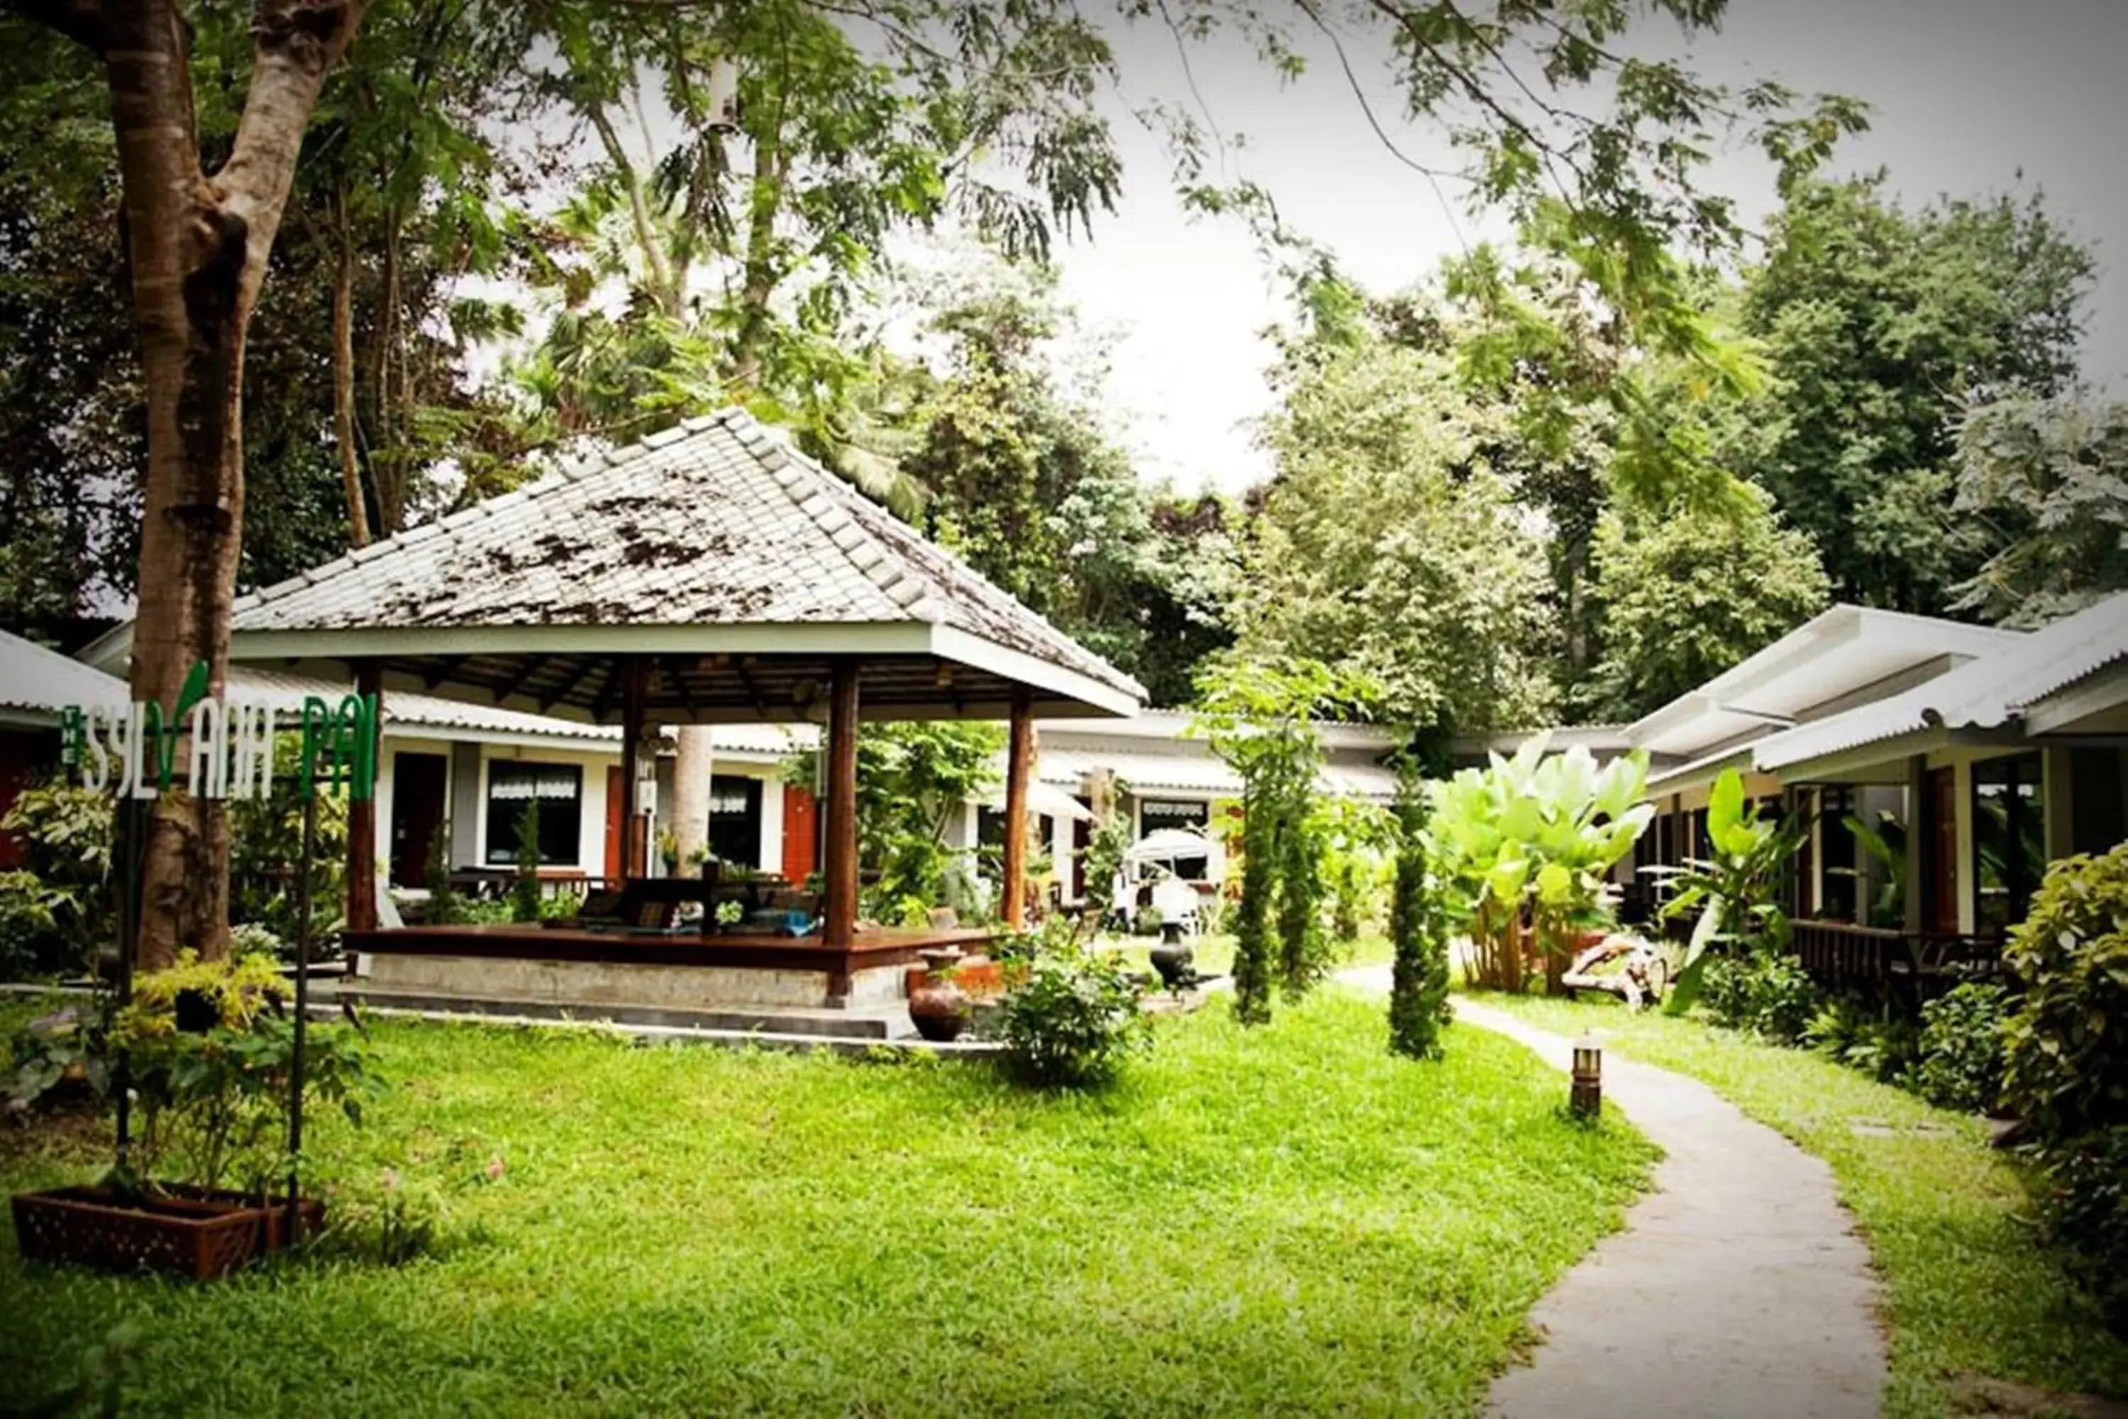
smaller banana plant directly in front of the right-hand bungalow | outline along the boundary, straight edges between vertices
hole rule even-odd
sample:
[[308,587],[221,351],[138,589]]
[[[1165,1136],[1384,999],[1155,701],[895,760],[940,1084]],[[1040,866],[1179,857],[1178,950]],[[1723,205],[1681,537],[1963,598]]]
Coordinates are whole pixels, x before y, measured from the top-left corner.
[[1683,1015],[1698,1000],[1707,955],[1717,945],[1788,951],[1788,913],[1781,911],[1781,874],[1809,836],[1809,819],[1792,813],[1758,817],[1743,798],[1743,774],[1722,770],[1707,798],[1707,842],[1711,857],[1688,857],[1675,879],[1677,896],[1664,917],[1700,911],[1685,945],[1685,962],[1670,985],[1666,1011]]

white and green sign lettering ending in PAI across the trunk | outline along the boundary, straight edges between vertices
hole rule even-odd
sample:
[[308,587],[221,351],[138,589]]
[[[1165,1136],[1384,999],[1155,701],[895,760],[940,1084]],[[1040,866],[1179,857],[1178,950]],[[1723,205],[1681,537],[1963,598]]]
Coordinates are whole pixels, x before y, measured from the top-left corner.
[[[155,700],[74,704],[60,713],[60,759],[94,794],[157,798],[179,785],[194,798],[266,798],[272,791],[275,738],[302,732],[302,794],[377,791],[377,696],[309,696],[283,723],[266,702],[215,700],[206,662],[196,662],[164,715]],[[183,749],[179,745],[183,740]]]

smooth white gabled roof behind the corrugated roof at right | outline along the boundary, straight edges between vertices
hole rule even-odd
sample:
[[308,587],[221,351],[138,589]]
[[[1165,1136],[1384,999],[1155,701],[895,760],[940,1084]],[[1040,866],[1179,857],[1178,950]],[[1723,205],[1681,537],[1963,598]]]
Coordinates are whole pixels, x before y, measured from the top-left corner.
[[1692,694],[1636,719],[1632,742],[1656,755],[1700,757],[1788,723],[1843,696],[1928,666],[2017,645],[2019,632],[1939,617],[1832,606]]

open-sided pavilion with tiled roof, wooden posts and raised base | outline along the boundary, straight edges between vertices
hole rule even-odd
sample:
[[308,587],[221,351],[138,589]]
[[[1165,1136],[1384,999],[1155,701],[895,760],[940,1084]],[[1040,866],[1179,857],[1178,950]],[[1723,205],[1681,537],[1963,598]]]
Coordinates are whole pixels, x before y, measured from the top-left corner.
[[[1130,715],[1145,700],[1136,681],[736,408],[245,596],[230,662],[353,677],[381,698],[617,723],[621,821],[638,836],[638,753],[655,725],[824,723],[817,936],[706,923],[687,936],[379,930],[375,825],[362,821],[372,808],[355,808],[347,945],[372,970],[430,994],[453,981],[506,994],[517,981],[587,996],[581,1004],[630,991],[679,1002],[704,981],[741,1004],[898,996],[919,949],[985,934],[860,932],[860,719],[1011,721],[1004,904],[1017,925],[1034,717]],[[626,874],[641,874],[643,847],[624,851]]]

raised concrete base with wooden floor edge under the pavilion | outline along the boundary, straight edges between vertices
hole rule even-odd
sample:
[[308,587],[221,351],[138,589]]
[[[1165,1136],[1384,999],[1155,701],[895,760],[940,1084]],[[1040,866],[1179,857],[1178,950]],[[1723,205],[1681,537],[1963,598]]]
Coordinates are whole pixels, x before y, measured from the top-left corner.
[[904,981],[919,951],[966,951],[987,936],[864,932],[845,951],[777,936],[496,925],[351,932],[347,947],[362,966],[340,994],[411,1011],[900,1038],[911,1032]]

